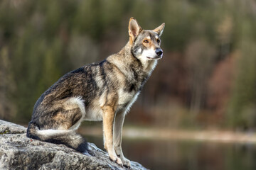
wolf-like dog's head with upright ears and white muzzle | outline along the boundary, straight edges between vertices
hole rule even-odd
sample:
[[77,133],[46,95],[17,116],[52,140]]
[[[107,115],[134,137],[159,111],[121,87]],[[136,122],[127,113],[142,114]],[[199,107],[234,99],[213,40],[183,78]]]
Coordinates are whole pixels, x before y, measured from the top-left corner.
[[160,36],[165,23],[154,30],[143,30],[134,18],[129,20],[129,43],[132,45],[132,54],[139,60],[159,60],[163,57]]

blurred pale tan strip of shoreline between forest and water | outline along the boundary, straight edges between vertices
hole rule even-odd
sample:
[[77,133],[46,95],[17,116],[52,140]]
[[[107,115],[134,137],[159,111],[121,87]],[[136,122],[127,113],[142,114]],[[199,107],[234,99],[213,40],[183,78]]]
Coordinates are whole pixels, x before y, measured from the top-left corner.
[[[102,128],[80,127],[81,135],[101,136]],[[220,143],[256,144],[255,132],[233,132],[229,130],[174,130],[160,128],[124,127],[122,136],[127,139],[151,140],[191,140]]]

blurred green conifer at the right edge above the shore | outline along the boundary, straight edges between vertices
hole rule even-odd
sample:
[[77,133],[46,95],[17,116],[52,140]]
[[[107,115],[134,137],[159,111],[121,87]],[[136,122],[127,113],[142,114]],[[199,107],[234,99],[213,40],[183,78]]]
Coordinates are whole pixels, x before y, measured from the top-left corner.
[[238,59],[238,70],[230,100],[228,120],[234,128],[256,126],[256,50],[255,42],[242,42],[242,55]]

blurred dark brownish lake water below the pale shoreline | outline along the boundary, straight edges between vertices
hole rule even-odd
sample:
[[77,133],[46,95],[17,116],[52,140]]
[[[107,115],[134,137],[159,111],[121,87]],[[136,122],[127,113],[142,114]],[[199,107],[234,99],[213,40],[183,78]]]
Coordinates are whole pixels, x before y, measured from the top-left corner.
[[[86,136],[103,149],[102,137]],[[256,145],[183,140],[123,139],[124,156],[148,169],[256,169]]]

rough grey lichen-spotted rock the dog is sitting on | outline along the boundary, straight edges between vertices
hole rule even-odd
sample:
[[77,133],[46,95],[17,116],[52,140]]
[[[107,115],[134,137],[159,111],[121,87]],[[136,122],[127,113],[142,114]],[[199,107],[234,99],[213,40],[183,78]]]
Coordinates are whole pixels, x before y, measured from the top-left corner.
[[[26,137],[26,128],[0,120],[0,169],[129,169],[112,162],[107,152],[88,143],[92,155],[65,145]],[[144,166],[131,162],[131,169]]]

